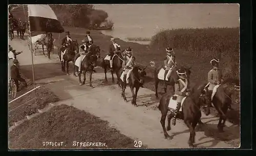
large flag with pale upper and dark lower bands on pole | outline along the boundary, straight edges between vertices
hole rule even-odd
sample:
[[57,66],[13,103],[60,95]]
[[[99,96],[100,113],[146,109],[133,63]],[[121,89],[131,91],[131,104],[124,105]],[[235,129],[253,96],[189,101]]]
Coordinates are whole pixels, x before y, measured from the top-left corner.
[[64,29],[49,5],[28,5],[30,32],[63,33]]

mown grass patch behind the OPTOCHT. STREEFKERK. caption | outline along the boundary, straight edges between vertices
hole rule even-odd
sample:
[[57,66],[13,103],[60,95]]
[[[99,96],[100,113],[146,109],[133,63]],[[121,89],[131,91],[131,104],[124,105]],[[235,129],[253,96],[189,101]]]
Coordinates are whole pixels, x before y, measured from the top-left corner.
[[[33,135],[31,135],[33,134]],[[63,142],[63,146],[44,146],[44,142]],[[73,142],[105,143],[106,146],[86,146]],[[90,145],[90,144],[89,144]],[[96,144],[95,144],[96,145]],[[134,140],[120,134],[90,113],[74,107],[60,105],[25,121],[9,133],[11,149],[86,149],[86,148],[134,148]],[[146,148],[142,146],[141,148]]]

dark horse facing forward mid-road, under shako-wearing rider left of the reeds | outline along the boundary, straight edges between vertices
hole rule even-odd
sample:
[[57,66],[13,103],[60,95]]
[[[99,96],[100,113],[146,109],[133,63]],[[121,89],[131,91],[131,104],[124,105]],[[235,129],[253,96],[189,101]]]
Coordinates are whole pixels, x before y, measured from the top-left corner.
[[[132,71],[131,71],[131,74],[129,76],[129,79],[128,79],[128,83],[129,83],[129,86],[130,86],[130,89],[132,91],[132,95],[133,95],[133,100],[132,100],[132,104],[137,107],[137,102],[136,102],[136,99],[137,99],[137,93],[139,91],[139,88],[141,86],[140,84],[140,81],[143,77],[146,76],[146,72],[145,72],[145,69],[141,69],[140,66],[134,66]],[[122,94],[121,96],[123,97],[123,100],[127,102],[127,99],[125,97],[125,89],[123,88],[124,87],[124,84],[123,84],[123,81],[121,80],[120,76],[123,72],[123,68],[119,69],[118,71],[118,74],[117,74],[117,79],[119,79],[120,83],[121,83],[121,86],[122,86]],[[134,88],[136,89],[135,90],[135,94],[134,94]]]

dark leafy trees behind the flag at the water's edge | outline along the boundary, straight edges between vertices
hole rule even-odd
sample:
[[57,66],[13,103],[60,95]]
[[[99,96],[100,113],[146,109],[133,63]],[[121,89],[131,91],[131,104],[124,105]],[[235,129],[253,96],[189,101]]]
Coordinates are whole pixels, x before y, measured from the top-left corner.
[[[100,25],[109,17],[103,10],[94,9],[93,5],[49,5],[55,12],[62,25],[89,28],[95,24]],[[28,20],[28,7],[22,5],[10,5],[10,10],[15,18]],[[26,14],[26,16],[25,16]]]

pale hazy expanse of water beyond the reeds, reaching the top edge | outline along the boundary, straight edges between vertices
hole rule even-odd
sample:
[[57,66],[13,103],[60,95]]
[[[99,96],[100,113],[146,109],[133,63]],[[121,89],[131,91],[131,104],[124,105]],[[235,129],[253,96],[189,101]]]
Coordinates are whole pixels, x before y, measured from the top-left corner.
[[[161,29],[239,27],[238,4],[127,4],[96,5],[114,22],[112,31],[101,31],[127,41],[151,38]],[[131,41],[148,44],[149,41]]]

